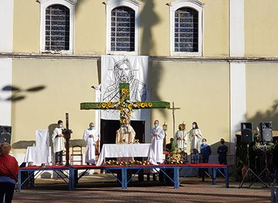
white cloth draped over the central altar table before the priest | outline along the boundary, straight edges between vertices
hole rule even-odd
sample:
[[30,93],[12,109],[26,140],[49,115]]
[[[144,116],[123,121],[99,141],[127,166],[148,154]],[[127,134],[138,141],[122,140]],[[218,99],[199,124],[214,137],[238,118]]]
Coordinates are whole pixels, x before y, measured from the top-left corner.
[[150,163],[157,164],[151,144],[104,144],[97,165],[101,165],[105,158],[113,157],[148,157]]

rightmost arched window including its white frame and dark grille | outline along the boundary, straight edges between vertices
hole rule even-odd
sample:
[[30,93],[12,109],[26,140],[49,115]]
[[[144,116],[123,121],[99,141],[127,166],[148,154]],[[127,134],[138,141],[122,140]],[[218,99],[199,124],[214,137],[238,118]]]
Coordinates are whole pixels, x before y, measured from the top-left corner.
[[203,6],[197,0],[177,0],[170,5],[170,55],[202,56]]

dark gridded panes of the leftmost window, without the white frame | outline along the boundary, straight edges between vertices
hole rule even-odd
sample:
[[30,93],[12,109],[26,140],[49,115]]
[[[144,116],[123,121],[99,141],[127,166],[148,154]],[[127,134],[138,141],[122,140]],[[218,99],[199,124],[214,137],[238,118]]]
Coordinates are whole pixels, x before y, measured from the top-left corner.
[[70,9],[53,5],[45,10],[45,50],[70,49]]

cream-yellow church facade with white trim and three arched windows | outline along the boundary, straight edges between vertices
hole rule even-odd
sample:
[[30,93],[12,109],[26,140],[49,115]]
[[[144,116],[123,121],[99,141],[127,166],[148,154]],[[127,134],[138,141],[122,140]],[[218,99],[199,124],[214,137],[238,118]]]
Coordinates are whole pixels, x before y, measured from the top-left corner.
[[[175,130],[197,122],[208,144],[224,138],[233,155],[240,122],[278,127],[277,8],[275,0],[0,1],[0,125],[13,127],[13,153],[65,112],[81,139],[99,123],[79,104],[99,97],[91,86],[101,84],[101,56],[124,55],[149,56],[149,99],[181,108]],[[172,111],[152,110],[150,127],[156,119],[168,142]]]

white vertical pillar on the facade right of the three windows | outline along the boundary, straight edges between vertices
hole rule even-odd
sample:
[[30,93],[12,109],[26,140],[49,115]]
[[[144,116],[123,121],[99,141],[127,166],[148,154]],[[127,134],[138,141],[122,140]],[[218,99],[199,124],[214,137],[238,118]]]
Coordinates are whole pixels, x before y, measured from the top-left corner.
[[[230,0],[230,56],[245,56],[244,0]],[[245,63],[230,63],[230,138],[235,142],[235,133],[240,131],[240,122],[246,121]],[[231,145],[234,154],[234,145]]]

